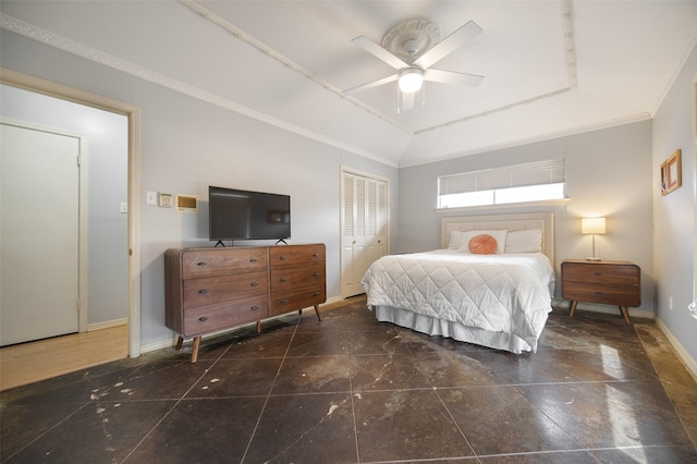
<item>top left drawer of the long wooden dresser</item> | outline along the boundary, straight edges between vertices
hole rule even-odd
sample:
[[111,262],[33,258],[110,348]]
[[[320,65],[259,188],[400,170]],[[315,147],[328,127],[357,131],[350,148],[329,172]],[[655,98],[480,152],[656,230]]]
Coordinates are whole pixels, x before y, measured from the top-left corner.
[[242,273],[267,268],[267,248],[191,249],[182,254],[184,279]]

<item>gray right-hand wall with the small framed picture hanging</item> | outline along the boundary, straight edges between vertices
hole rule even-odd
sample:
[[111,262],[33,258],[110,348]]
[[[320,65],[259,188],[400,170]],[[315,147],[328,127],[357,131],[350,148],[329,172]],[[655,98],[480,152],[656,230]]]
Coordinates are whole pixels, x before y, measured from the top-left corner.
[[[696,171],[693,145],[697,127],[697,48],[677,75],[671,90],[653,119],[653,259],[656,264],[657,313],[659,320],[684,350],[697,362],[697,321],[689,317],[687,305],[697,297],[693,293],[695,259]],[[662,196],[659,167],[676,149],[682,149],[683,186]],[[697,289],[695,289],[697,291]],[[673,309],[669,298],[673,300]],[[675,341],[675,340],[674,340]],[[697,371],[697,365],[693,365]]]

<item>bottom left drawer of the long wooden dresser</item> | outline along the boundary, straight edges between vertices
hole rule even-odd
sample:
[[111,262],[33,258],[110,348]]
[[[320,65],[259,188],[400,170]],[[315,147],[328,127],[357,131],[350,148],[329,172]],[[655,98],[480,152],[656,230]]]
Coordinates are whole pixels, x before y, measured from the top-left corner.
[[184,337],[196,337],[215,330],[254,322],[269,316],[267,295],[234,300],[184,309]]

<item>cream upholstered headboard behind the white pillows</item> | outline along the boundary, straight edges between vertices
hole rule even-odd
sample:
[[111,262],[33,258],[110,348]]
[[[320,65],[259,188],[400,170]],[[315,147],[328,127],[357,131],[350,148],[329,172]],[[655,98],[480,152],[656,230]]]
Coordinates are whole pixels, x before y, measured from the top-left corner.
[[519,215],[458,216],[440,220],[441,248],[448,248],[450,232],[472,230],[519,231],[542,230],[542,253],[554,265],[554,215],[551,212],[528,212]]

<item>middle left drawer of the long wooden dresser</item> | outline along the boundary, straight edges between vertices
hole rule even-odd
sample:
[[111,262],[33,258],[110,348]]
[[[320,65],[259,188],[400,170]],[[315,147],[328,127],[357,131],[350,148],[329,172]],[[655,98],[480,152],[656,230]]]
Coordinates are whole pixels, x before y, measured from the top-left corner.
[[220,303],[241,295],[262,295],[267,292],[267,285],[266,271],[188,279],[184,281],[184,307]]

